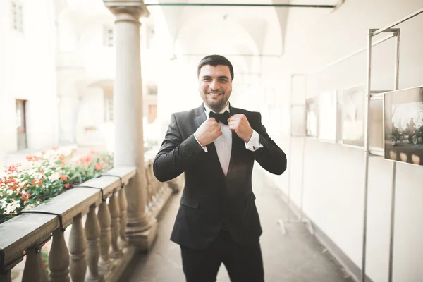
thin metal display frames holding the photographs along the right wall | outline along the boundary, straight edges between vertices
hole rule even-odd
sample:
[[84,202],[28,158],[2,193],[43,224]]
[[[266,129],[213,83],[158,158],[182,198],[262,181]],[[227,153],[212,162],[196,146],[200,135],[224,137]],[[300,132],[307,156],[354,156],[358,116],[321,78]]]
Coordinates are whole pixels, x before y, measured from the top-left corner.
[[[292,135],[292,119],[293,119],[293,107],[296,106],[303,106],[305,111],[305,104],[298,105],[298,104],[292,104],[293,102],[293,80],[298,77],[302,76],[305,79],[305,85],[307,81],[307,76],[312,75],[315,73],[319,73],[320,71],[325,70],[326,68],[329,68],[331,66],[335,66],[338,63],[341,63],[345,61],[346,59],[350,59],[351,57],[362,53],[363,51],[367,51],[367,77],[366,77],[366,98],[365,99],[365,106],[364,106],[364,219],[363,219],[363,241],[362,241],[362,277],[361,281],[365,282],[367,280],[366,276],[366,251],[367,251],[367,200],[368,200],[368,192],[369,192],[369,157],[371,155],[373,156],[384,156],[384,152],[380,151],[378,149],[374,149],[372,147],[369,147],[369,106],[371,100],[378,100],[378,99],[384,99],[384,92],[388,92],[388,90],[371,90],[372,87],[372,77],[371,77],[371,71],[372,71],[372,47],[375,47],[376,45],[381,44],[382,42],[385,42],[388,39],[391,39],[393,37],[396,38],[396,49],[395,49],[395,70],[394,70],[394,81],[393,81],[393,90],[398,90],[398,78],[399,78],[399,51],[400,51],[400,28],[392,28],[396,25],[399,25],[400,23],[405,22],[406,20],[409,20],[410,18],[414,18],[415,16],[423,13],[423,8],[418,9],[417,11],[410,13],[409,15],[405,16],[404,18],[401,18],[400,20],[396,20],[395,22],[387,25],[386,27],[382,27],[379,29],[369,29],[367,33],[367,46],[355,51],[352,54],[348,54],[347,56],[343,56],[341,59],[338,59],[336,61],[333,61],[331,63],[326,64],[325,66],[322,66],[321,68],[318,68],[315,71],[312,71],[310,73],[302,73],[302,74],[293,74],[291,75],[291,89],[290,89],[290,143],[289,143],[289,149],[288,152],[290,156],[292,155],[292,142],[293,138],[302,138],[302,171],[301,171],[301,185],[300,185],[300,219],[299,220],[290,220],[290,192],[291,192],[291,185],[290,185],[290,175],[291,175],[291,165],[290,162],[288,163],[288,195],[287,195],[287,204],[288,204],[288,212],[287,212],[287,222],[288,223],[308,223],[309,226],[311,226],[311,223],[309,220],[304,219],[303,214],[303,207],[302,207],[302,199],[303,199],[303,179],[304,179],[304,151],[305,151],[305,138],[307,136],[294,136]],[[390,35],[383,37],[377,41],[373,40],[373,37],[376,35],[381,34],[382,32],[388,32],[391,33]],[[307,90],[305,90],[307,91]],[[306,95],[305,95],[306,96]],[[306,98],[306,97],[305,97]],[[305,124],[304,121],[304,125]],[[389,265],[388,265],[388,282],[393,281],[393,240],[394,240],[394,229],[395,229],[395,206],[396,206],[396,162],[393,161],[392,164],[392,191],[391,191],[391,223],[390,223],[390,234],[389,234]],[[313,233],[313,232],[312,232]]]

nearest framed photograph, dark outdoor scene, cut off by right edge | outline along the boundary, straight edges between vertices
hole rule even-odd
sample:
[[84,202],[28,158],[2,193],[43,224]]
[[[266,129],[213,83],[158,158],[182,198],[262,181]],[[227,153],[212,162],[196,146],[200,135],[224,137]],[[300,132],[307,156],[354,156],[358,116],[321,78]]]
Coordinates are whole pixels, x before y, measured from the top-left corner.
[[423,166],[423,86],[384,93],[384,157]]

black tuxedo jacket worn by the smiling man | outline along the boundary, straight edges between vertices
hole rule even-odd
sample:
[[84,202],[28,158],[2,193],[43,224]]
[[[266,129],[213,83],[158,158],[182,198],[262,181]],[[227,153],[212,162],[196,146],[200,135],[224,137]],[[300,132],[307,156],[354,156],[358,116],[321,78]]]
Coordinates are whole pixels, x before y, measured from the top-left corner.
[[154,159],[154,175],[161,182],[185,173],[185,187],[171,234],[171,240],[184,247],[206,248],[223,224],[235,242],[257,243],[262,228],[251,185],[254,162],[270,173],[280,175],[286,170],[286,154],[266,133],[261,115],[232,106],[229,109],[231,115],[247,117],[251,127],[259,133],[263,147],[252,152],[233,132],[226,176],[214,143],[207,145],[205,152],[194,137],[197,128],[207,119],[203,105],[171,115],[168,131]]

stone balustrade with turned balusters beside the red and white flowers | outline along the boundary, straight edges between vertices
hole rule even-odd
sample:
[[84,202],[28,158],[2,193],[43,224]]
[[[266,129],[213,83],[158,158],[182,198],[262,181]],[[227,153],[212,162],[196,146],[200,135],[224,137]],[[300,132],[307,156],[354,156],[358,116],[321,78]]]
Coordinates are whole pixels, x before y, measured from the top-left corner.
[[[145,169],[147,207],[155,217],[173,185],[159,183],[152,174],[152,161],[146,161]],[[117,281],[137,250],[125,236],[125,185],[135,173],[133,167],[113,168],[105,173],[109,176],[88,180],[0,224],[0,281],[12,281],[11,270],[24,255],[22,281]],[[50,238],[47,278],[40,250]]]

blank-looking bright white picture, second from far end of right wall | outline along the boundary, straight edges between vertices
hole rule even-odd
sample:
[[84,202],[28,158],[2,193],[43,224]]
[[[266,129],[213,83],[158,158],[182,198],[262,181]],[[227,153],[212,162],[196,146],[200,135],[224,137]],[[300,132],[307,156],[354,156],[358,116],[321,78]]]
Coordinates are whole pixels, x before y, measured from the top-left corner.
[[337,92],[328,91],[319,94],[319,119],[317,128],[321,142],[336,142]]

